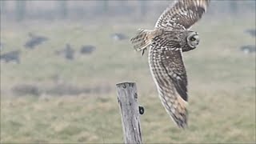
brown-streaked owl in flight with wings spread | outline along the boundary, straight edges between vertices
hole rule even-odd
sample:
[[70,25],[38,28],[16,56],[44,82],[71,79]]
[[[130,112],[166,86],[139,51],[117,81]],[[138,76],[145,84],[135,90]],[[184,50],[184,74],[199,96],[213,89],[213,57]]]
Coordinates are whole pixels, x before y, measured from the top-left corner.
[[210,0],[178,0],[168,7],[156,22],[154,30],[139,30],[131,38],[134,49],[149,50],[150,72],[159,98],[170,118],[187,126],[187,77],[182,52],[194,50],[199,43],[198,33],[190,27],[206,13]]

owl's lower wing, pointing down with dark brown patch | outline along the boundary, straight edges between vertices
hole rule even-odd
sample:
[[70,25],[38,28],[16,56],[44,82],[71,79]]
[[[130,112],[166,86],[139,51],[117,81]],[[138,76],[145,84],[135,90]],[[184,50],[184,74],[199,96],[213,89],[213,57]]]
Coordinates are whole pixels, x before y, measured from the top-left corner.
[[[166,41],[165,41],[166,42]],[[179,127],[187,126],[187,78],[182,61],[181,46],[153,40],[150,45],[150,71],[158,88],[159,97],[170,118]]]

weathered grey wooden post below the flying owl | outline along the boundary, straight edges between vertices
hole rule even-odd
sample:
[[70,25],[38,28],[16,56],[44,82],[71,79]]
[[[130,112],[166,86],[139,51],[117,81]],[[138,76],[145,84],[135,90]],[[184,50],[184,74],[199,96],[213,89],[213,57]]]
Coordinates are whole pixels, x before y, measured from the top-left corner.
[[142,143],[142,132],[139,120],[138,94],[134,82],[123,82],[116,85],[118,103],[122,115],[122,131],[125,143]]

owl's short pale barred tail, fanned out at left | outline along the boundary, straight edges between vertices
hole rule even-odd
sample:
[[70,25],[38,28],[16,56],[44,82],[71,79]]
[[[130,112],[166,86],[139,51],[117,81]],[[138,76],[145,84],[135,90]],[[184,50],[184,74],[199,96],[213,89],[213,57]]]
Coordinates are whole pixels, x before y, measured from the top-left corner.
[[141,51],[150,46],[152,39],[154,38],[155,30],[138,30],[138,33],[131,38],[130,41],[134,45],[134,49]]

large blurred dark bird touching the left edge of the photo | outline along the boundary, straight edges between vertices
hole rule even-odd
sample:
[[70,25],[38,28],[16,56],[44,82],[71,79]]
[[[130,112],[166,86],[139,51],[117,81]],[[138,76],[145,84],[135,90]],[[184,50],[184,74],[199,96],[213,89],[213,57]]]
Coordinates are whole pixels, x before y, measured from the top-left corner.
[[0,60],[5,61],[5,62],[14,61],[16,63],[19,63],[20,62],[20,50],[14,50],[14,51],[10,51],[6,54],[1,54]]

